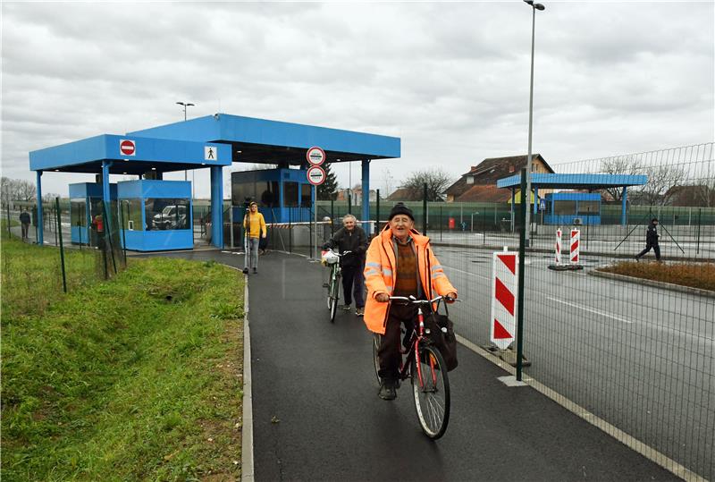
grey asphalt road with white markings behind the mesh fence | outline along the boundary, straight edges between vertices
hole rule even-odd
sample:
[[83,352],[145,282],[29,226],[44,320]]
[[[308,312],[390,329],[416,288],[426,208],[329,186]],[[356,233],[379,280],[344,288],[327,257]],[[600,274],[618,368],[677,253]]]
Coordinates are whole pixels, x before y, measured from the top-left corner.
[[[492,253],[435,248],[464,300],[456,331],[489,344]],[[715,468],[715,300],[526,262],[526,374],[706,478]]]

